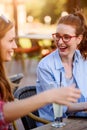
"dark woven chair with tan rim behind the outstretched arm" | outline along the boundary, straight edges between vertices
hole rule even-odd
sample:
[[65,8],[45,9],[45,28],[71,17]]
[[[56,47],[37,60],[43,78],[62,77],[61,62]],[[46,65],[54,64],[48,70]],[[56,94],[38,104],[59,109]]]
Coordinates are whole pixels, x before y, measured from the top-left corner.
[[[14,97],[17,99],[24,99],[36,94],[36,86],[24,86],[14,92]],[[48,124],[50,121],[42,119],[38,115],[38,110],[27,114],[21,118],[25,130],[36,128],[36,122]]]

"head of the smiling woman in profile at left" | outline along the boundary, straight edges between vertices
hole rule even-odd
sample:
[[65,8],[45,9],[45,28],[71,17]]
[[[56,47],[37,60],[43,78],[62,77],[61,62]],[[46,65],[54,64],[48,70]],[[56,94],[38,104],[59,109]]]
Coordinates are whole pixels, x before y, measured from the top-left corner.
[[1,59],[3,61],[9,61],[11,60],[11,57],[14,53],[14,49],[17,48],[17,45],[15,43],[15,28],[14,24],[11,23],[8,19],[6,19],[4,16],[1,17],[2,17],[2,19],[0,19],[0,24],[2,25],[0,31]]

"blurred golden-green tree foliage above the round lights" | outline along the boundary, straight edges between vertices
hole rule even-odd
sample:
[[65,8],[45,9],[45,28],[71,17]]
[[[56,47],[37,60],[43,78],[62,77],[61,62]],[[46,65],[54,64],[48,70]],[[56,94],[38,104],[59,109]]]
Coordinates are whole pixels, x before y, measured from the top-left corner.
[[32,15],[41,22],[44,22],[44,17],[49,15],[53,24],[65,10],[65,3],[66,0],[31,0],[26,3],[27,15]]

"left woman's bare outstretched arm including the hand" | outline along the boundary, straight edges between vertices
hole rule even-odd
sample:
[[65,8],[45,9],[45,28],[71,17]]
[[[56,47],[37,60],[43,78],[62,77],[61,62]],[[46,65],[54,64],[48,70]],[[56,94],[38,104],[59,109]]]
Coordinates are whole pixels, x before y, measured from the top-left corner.
[[[67,94],[67,91],[69,92],[69,95]],[[73,87],[50,89],[26,99],[5,103],[3,106],[4,117],[7,122],[12,122],[47,104],[54,102],[68,106],[70,102],[76,102],[79,97],[80,91]],[[72,105],[72,107],[74,106]],[[69,109],[72,107],[69,107]]]

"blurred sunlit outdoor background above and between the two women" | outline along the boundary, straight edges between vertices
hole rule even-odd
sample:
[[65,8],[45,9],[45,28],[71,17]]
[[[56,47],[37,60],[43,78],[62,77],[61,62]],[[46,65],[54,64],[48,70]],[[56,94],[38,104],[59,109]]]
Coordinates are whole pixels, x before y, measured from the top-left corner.
[[87,17],[87,0],[0,0],[0,14],[15,22],[18,35],[18,49],[6,63],[8,74],[22,72],[22,85],[35,84],[38,62],[55,49],[51,34],[58,18],[75,8]]

